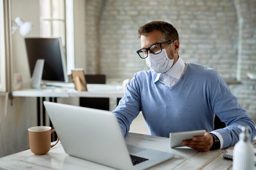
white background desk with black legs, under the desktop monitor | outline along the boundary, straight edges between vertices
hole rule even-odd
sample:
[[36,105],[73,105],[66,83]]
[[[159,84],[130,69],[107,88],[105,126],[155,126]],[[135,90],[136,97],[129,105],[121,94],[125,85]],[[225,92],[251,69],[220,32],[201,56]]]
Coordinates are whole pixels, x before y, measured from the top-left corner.
[[[20,91],[13,91],[13,97],[37,97],[37,126],[51,126],[46,124],[46,113],[43,102],[45,97],[49,97],[49,102],[57,102],[57,98],[62,97],[115,97],[121,98],[124,96],[122,86],[111,84],[87,84],[88,91],[76,91],[74,88],[65,87],[44,87],[40,89],[23,89]],[[42,108],[42,109],[41,109]],[[42,121],[41,121],[42,117]],[[56,140],[56,134],[52,134],[52,140]]]

